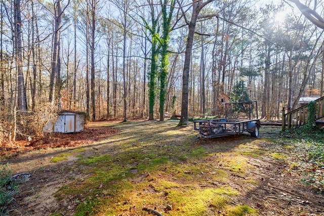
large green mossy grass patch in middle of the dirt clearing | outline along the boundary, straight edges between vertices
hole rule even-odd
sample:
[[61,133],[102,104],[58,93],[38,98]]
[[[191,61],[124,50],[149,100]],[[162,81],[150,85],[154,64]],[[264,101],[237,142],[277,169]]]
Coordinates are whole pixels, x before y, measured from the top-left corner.
[[140,210],[144,206],[163,212],[167,204],[173,206],[174,216],[217,214],[229,205],[230,196],[239,194],[230,186],[217,186],[230,181],[231,171],[240,174],[251,166],[247,160],[258,154],[256,146],[251,155],[250,146],[243,155],[236,146],[215,154],[209,145],[193,145],[193,135],[186,128],[174,130],[171,124],[117,124],[121,133],[114,140],[120,141],[114,146],[118,151],[80,156],[76,170],[84,176],[74,178],[56,196],[77,205],[76,215],[144,215],[147,212]]

